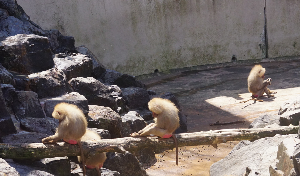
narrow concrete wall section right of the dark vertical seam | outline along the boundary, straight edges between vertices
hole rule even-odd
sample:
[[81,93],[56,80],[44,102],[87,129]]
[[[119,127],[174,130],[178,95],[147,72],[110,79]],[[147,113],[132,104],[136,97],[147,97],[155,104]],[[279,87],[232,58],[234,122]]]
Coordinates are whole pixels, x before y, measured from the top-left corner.
[[268,57],[300,55],[300,1],[266,0]]

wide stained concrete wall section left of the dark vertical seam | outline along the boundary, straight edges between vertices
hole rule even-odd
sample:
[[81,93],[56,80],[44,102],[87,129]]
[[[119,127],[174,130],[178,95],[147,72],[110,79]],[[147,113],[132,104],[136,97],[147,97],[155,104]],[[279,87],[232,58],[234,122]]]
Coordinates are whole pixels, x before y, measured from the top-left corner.
[[76,46],[87,46],[107,69],[121,73],[141,75],[231,62],[232,55],[237,60],[265,58],[265,0],[18,0],[18,4],[42,28],[75,37]]

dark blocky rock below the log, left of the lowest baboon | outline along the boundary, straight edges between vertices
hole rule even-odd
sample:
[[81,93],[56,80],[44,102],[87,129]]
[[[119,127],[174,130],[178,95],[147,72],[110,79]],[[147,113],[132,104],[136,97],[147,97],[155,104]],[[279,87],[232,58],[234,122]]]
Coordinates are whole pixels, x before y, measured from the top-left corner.
[[47,169],[53,175],[71,175],[71,164],[68,157],[45,158],[42,162],[46,164]]

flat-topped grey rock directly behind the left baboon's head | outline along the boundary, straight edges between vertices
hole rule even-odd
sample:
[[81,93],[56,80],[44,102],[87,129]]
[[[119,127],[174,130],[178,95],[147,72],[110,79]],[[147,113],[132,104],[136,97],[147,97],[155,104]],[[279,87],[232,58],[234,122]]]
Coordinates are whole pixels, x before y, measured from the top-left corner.
[[69,94],[50,99],[44,98],[43,100],[45,101],[44,111],[47,117],[52,117],[52,112],[55,105],[62,102],[76,105],[79,109],[82,110],[83,114],[88,114],[89,112],[88,100],[78,92],[71,92]]

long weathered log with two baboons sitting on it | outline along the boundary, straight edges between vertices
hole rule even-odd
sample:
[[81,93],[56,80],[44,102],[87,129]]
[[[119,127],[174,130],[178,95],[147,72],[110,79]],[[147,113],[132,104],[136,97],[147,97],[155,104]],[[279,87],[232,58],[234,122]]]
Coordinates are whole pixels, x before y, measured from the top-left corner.
[[[214,130],[197,133],[176,134],[178,146],[212,145],[217,148],[217,144],[228,141],[240,141],[272,137],[276,134],[296,134],[299,126],[284,126],[273,128],[254,128],[254,129],[226,129]],[[118,138],[102,139],[101,141],[82,142],[86,156],[94,155],[97,152],[133,152],[143,148],[170,148],[173,149],[173,138],[163,139],[158,137],[140,138]],[[19,143],[19,144],[0,144],[0,158],[29,159],[29,158],[52,158],[64,156],[80,155],[78,145],[71,145],[64,142],[55,144],[43,143]]]

